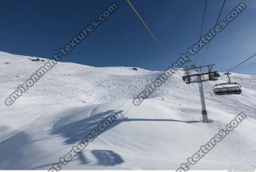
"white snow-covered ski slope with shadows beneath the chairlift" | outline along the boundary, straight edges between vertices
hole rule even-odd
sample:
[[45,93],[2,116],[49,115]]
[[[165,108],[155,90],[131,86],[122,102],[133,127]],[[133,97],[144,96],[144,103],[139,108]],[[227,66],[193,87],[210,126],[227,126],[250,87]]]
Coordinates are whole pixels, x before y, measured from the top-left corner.
[[129,67],[59,62],[6,106],[5,98],[44,64],[29,58],[0,52],[1,170],[48,170],[112,111],[121,118],[64,170],[176,170],[239,112],[248,118],[191,168],[256,168],[256,76],[232,75],[241,95],[215,96],[215,82],[204,82],[208,124],[201,122],[198,85],[186,85],[178,74],[134,106],[132,98],[159,72]]

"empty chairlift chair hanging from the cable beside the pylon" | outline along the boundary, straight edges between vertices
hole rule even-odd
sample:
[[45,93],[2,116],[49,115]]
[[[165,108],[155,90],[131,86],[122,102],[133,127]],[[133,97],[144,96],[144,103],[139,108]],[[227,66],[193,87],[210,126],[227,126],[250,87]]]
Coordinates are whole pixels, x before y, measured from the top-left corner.
[[229,78],[229,81],[226,83],[215,84],[214,94],[215,95],[226,95],[226,94],[242,94],[242,88],[237,82],[230,82],[230,73],[225,73]]

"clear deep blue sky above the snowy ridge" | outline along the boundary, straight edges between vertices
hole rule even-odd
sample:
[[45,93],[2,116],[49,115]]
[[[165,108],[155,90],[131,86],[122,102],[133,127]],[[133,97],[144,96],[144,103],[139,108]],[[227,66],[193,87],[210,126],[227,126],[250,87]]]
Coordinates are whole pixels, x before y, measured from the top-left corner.
[[[164,70],[169,65],[125,0],[2,0],[0,51],[50,58],[111,2],[118,10],[63,61],[88,66],[138,66]],[[199,38],[205,0],[131,0],[170,58],[178,58]],[[206,33],[223,0],[208,0]],[[256,51],[256,1],[227,0],[221,18],[239,2],[247,9],[211,42],[203,64],[229,70]],[[198,53],[198,61],[204,50]],[[256,58],[235,72],[256,74]]]

